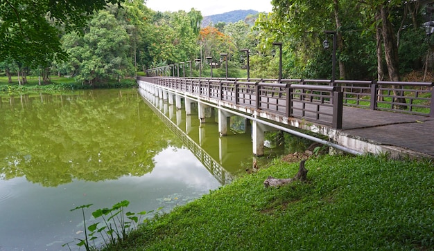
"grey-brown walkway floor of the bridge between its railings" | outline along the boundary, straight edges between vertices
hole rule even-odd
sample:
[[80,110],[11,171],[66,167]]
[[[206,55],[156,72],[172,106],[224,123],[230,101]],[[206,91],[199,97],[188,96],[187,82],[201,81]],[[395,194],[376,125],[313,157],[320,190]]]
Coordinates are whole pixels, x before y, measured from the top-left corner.
[[434,158],[434,118],[344,106],[340,131],[375,145]]

